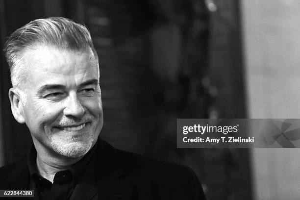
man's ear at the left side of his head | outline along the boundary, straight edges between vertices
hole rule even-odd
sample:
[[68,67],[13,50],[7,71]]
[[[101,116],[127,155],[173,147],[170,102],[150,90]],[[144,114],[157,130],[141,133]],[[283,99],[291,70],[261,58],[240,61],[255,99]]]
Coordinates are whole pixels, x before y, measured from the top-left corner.
[[14,118],[19,122],[20,124],[25,123],[24,118],[24,107],[23,103],[20,98],[20,94],[16,90],[16,88],[10,88],[8,92],[10,105],[11,105],[11,112],[14,116]]

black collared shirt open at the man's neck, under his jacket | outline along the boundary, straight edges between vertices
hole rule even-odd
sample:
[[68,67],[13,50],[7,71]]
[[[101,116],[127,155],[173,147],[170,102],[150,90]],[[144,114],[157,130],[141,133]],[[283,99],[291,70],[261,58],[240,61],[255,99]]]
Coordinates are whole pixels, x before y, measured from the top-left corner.
[[[76,184],[81,178],[80,175],[85,174],[84,172],[87,166],[95,166],[95,159],[93,159],[93,157],[95,157],[97,143],[81,160],[72,165],[69,169],[57,172],[54,176],[53,184],[38,173],[36,150],[34,146],[32,146],[27,157],[27,164],[30,174],[29,188],[34,190],[34,199],[70,200]],[[91,178],[95,177],[95,171],[92,170],[90,175]]]

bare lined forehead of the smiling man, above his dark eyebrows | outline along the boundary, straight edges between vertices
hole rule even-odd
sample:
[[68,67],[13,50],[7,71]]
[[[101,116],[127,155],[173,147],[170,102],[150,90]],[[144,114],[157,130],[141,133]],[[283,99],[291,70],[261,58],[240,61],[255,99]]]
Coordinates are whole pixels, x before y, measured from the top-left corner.
[[99,79],[98,61],[92,50],[59,50],[38,46],[24,51],[22,64],[27,82],[32,84]]

